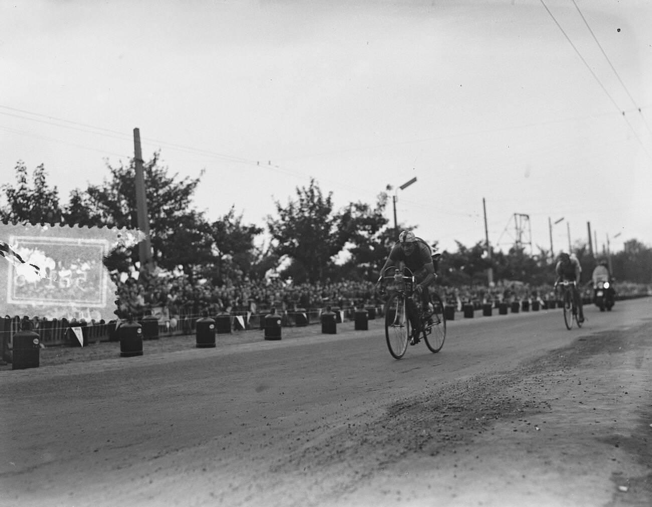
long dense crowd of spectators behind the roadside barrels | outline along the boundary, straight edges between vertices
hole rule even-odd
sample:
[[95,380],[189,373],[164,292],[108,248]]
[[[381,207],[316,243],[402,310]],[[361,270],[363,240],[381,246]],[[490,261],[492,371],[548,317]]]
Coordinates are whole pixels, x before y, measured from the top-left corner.
[[[252,281],[246,277],[238,283],[213,286],[208,281],[190,283],[181,276],[160,275],[151,277],[147,286],[137,279],[128,278],[118,284],[121,318],[155,315],[164,318],[200,316],[227,312],[243,315],[264,314],[275,309],[279,312],[296,309],[325,309],[339,307],[378,307],[383,296],[370,281],[327,281],[326,283],[292,283],[276,277],[266,281]],[[498,282],[488,288],[484,285],[437,286],[437,292],[447,305],[461,310],[466,303],[512,303],[513,301],[556,299],[552,285],[531,286],[520,282]],[[584,287],[584,298],[592,298],[590,286]],[[617,285],[621,296],[648,294],[649,287],[640,284]]]

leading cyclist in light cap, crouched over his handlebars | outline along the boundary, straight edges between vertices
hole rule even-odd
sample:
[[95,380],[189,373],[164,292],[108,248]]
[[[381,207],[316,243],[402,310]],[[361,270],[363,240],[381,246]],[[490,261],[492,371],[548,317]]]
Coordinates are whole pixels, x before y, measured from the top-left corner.
[[[398,241],[394,244],[389,257],[385,262],[385,266],[380,270],[380,276],[376,286],[379,286],[383,280],[383,273],[387,268],[399,268],[406,266],[415,277],[415,291],[421,296],[421,305],[424,309],[424,317],[428,318],[434,312],[430,297],[428,294],[428,286],[432,285],[437,279],[435,273],[435,266],[432,262],[432,252],[428,243],[423,239],[417,238],[413,232],[404,230],[398,235]],[[412,325],[411,345],[419,341],[419,330],[421,323],[419,322],[419,313],[415,311],[413,301],[408,298],[408,316]]]

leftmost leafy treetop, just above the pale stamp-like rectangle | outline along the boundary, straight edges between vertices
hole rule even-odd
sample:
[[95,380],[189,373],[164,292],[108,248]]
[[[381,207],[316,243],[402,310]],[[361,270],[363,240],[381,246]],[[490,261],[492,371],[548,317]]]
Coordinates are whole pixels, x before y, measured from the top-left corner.
[[33,186],[27,181],[25,162],[18,161],[15,169],[18,186],[5,183],[0,187],[7,198],[7,205],[0,208],[0,219],[15,223],[59,223],[59,191],[57,187],[48,185],[44,165],[40,164],[34,170]]

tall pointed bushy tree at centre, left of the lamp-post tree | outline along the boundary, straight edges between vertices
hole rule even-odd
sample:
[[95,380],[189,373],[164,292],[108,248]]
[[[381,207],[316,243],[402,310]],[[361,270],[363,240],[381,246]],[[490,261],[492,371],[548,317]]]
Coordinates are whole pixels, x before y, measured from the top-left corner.
[[274,253],[299,262],[310,282],[324,281],[333,256],[348,239],[351,215],[334,213],[332,194],[323,196],[316,181],[310,179],[308,188],[297,187],[297,200],[285,207],[276,201],[278,219],[267,217]]

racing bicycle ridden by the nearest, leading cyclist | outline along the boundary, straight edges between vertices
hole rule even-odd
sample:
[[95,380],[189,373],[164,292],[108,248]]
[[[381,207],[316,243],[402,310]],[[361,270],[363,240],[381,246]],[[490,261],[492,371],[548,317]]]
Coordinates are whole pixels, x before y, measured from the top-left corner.
[[421,298],[415,297],[415,278],[412,271],[408,268],[400,270],[390,267],[385,269],[382,279],[383,286],[387,286],[385,340],[392,357],[400,359],[406,353],[411,337],[409,316],[413,311],[419,316],[419,337],[423,337],[430,352],[439,352],[446,339],[444,305],[439,294],[428,292],[434,313],[430,316],[424,315]]

